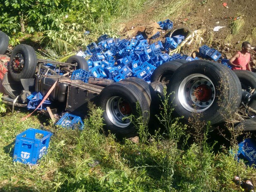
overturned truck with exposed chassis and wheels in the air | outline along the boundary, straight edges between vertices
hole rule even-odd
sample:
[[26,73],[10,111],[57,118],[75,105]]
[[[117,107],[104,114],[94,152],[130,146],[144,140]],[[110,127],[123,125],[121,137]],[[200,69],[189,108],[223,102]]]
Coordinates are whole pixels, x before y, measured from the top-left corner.
[[[3,33],[1,38],[0,42],[7,41]],[[0,45],[1,54],[6,53],[8,43]],[[52,70],[48,64],[57,66],[58,70]],[[6,94],[3,102],[27,107],[31,93],[40,92],[43,97],[50,93],[46,99],[51,101],[53,113],[67,111],[84,118],[91,101],[104,111],[104,128],[119,137],[136,135],[135,126],[125,118],[131,114],[142,115],[145,125],[156,122],[154,118],[161,110],[164,87],[167,94],[171,94],[169,105],[174,108],[174,115],[183,116],[185,121],[200,114],[200,120],[216,125],[234,117],[239,106],[243,106],[248,119],[255,122],[256,74],[232,71],[216,62],[169,61],[154,70],[150,84],[135,77],[119,82],[89,77],[84,83],[72,80],[70,75],[75,69],[88,71],[83,57],[72,56],[66,63],[37,59],[31,46],[21,44],[10,50],[7,69],[1,83]],[[253,129],[251,127],[255,126],[249,125],[248,129]]]

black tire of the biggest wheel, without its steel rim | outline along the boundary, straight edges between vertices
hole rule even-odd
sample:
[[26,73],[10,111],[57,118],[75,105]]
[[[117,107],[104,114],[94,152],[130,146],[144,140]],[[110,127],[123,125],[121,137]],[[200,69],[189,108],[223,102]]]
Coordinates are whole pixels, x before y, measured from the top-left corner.
[[[187,111],[180,104],[178,94],[176,93],[178,93],[178,88],[183,79],[194,73],[201,73],[210,78],[216,88],[216,97],[213,104],[201,112],[199,119],[202,121],[211,121],[211,124],[223,122],[237,110],[241,102],[242,89],[241,84],[237,82],[238,78],[233,72],[221,64],[202,60],[183,64],[183,66],[173,73],[171,83],[167,87],[168,93],[175,92],[171,94],[169,104],[174,107],[175,113],[178,116],[184,116],[185,120],[193,117],[193,113]],[[220,84],[225,86],[221,86]],[[224,95],[226,96],[224,97]]]

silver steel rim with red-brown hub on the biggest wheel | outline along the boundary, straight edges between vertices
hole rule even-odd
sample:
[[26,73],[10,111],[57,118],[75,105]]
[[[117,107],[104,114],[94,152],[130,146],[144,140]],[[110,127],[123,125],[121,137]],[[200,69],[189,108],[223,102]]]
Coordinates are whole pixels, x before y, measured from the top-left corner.
[[215,97],[215,87],[211,79],[200,73],[187,76],[178,88],[178,100],[190,112],[202,112],[209,109]]

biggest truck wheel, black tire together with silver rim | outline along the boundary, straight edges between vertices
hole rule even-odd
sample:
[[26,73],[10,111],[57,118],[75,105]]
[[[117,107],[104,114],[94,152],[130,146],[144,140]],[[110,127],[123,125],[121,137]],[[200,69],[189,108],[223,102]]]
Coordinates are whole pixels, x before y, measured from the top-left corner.
[[220,123],[230,118],[242,99],[242,87],[235,73],[221,64],[192,61],[180,66],[167,87],[169,104],[185,120],[199,114],[201,121]]

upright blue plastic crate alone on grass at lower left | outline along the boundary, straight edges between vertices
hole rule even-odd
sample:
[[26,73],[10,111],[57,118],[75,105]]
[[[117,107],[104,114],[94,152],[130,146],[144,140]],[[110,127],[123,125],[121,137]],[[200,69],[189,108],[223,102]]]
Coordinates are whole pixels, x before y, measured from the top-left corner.
[[36,164],[49,147],[51,132],[29,128],[16,136],[13,160],[24,164]]

